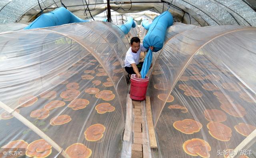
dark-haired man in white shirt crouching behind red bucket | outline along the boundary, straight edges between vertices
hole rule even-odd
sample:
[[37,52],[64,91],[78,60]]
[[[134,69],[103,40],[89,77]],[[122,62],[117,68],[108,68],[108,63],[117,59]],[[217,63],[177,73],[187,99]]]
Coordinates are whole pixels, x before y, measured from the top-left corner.
[[[132,39],[130,40],[130,46],[131,47],[126,52],[124,60],[124,68],[128,73],[129,81],[131,74],[137,74],[137,78],[141,78],[140,71],[142,69],[143,62],[140,62],[140,53],[142,51],[148,51],[146,48],[143,47],[142,44],[140,44],[140,39],[138,37],[132,37]],[[150,47],[150,49],[153,51],[154,47]]]

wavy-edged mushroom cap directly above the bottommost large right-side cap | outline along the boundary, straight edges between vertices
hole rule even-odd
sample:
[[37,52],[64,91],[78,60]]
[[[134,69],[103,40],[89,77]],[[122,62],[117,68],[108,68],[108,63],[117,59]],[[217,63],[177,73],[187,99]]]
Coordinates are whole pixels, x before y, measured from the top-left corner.
[[203,126],[200,122],[192,119],[184,119],[182,121],[175,121],[173,127],[182,133],[193,134],[199,132]]

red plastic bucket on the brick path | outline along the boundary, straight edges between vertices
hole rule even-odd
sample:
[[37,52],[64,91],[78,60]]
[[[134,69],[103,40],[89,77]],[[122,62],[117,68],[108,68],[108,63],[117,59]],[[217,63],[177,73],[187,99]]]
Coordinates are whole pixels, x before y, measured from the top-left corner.
[[146,99],[146,92],[148,88],[149,77],[146,78],[136,78],[136,74],[132,74],[131,80],[131,89],[130,89],[130,98],[138,101]]

